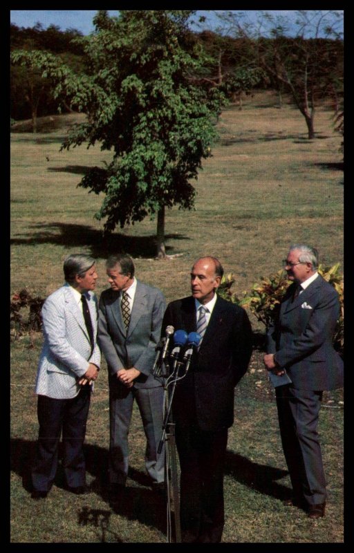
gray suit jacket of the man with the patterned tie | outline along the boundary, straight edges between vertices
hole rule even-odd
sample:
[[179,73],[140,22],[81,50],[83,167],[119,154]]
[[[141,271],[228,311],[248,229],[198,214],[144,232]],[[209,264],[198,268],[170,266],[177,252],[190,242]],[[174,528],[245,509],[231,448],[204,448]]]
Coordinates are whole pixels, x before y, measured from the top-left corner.
[[165,297],[158,288],[137,281],[128,331],[120,310],[120,293],[104,290],[100,297],[97,340],[109,369],[109,384],[122,386],[115,373],[135,367],[141,372],[136,388],[161,386],[151,371],[160,340]]

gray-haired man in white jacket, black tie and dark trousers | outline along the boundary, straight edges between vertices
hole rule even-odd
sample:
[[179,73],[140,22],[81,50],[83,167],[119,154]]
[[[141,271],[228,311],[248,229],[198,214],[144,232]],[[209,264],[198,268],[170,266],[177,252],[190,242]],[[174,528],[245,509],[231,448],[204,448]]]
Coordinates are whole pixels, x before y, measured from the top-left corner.
[[66,283],[46,299],[41,311],[44,345],[35,392],[39,437],[32,466],[32,498],[45,498],[57,471],[62,433],[64,478],[74,494],[86,491],[83,445],[91,387],[100,369],[97,346],[95,259],[72,254],[64,261]]

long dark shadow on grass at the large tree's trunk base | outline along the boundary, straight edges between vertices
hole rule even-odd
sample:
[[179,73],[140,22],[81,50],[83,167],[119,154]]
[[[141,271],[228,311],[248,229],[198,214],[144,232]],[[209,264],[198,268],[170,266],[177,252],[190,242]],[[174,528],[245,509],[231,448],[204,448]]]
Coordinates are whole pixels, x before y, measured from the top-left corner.
[[[110,254],[127,253],[133,257],[151,258],[156,256],[156,236],[126,236],[113,232],[104,236],[101,230],[88,225],[74,223],[48,223],[47,225],[32,225],[38,229],[29,238],[12,238],[12,245],[57,244],[63,246],[87,247],[96,259],[106,258]],[[189,240],[182,234],[166,234],[165,240]],[[166,252],[171,253],[173,246],[166,246]]]

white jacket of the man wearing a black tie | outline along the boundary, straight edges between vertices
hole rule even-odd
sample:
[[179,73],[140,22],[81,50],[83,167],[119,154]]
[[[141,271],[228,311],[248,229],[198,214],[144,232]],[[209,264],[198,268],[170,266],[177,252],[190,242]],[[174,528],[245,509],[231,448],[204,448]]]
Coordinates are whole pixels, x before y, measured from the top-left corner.
[[[41,310],[44,344],[39,358],[35,391],[57,399],[70,399],[80,391],[77,379],[88,363],[100,368],[100,348],[91,343],[84,315],[75,301],[70,285],[65,284],[46,299]],[[97,335],[97,298],[87,292],[93,333]]]

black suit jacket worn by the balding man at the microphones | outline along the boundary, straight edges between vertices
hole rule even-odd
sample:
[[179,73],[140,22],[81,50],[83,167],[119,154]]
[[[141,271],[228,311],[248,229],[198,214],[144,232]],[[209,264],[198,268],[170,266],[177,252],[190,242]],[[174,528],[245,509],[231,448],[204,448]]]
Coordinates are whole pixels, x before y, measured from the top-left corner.
[[[162,329],[196,332],[192,296],[167,306]],[[203,431],[218,431],[234,422],[234,386],[245,374],[252,354],[252,330],[243,308],[217,297],[201,348],[195,350],[187,376],[174,393],[176,423],[194,423]]]

